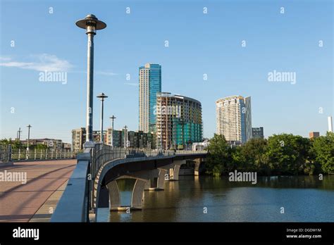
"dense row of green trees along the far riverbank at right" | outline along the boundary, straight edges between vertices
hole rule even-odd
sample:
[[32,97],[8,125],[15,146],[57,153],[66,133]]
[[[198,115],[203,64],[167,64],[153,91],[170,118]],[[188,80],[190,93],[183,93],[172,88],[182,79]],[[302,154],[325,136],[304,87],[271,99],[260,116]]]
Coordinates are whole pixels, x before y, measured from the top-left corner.
[[207,147],[205,164],[209,175],[254,171],[259,175],[334,174],[334,133],[313,139],[293,134],[273,134],[268,139],[250,139],[230,148],[223,135],[214,134]]

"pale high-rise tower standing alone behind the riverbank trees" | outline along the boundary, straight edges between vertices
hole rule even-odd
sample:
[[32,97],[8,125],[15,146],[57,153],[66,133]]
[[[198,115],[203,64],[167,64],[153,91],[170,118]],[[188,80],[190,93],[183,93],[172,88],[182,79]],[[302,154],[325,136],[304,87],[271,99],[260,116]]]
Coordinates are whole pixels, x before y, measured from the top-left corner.
[[229,96],[216,101],[216,133],[227,141],[252,139],[251,97]]

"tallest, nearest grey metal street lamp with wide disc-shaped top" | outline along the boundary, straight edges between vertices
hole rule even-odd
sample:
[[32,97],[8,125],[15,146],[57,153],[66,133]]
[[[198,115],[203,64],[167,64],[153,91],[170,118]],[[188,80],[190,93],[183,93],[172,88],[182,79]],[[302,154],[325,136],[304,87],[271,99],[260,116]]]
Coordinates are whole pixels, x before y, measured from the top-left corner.
[[94,84],[94,35],[97,30],[106,28],[106,23],[98,20],[95,15],[87,15],[78,20],[75,25],[85,29],[88,36],[87,45],[87,112],[86,112],[86,142],[93,141],[93,84]]

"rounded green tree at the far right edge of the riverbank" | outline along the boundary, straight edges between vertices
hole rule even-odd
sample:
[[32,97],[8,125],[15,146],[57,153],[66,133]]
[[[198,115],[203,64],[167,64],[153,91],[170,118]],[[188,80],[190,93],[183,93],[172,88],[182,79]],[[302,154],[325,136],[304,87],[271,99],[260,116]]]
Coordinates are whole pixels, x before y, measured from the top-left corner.
[[334,133],[327,132],[326,136],[315,138],[310,149],[314,156],[315,165],[321,166],[323,173],[334,173]]

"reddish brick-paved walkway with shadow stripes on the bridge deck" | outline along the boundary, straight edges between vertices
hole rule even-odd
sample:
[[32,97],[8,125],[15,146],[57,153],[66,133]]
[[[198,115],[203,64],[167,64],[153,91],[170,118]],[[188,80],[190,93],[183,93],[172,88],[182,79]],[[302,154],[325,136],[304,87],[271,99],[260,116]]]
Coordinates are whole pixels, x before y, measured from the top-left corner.
[[27,172],[26,184],[0,182],[0,222],[28,222],[69,179],[76,163],[76,159],[27,161],[0,167],[0,172]]

